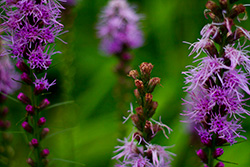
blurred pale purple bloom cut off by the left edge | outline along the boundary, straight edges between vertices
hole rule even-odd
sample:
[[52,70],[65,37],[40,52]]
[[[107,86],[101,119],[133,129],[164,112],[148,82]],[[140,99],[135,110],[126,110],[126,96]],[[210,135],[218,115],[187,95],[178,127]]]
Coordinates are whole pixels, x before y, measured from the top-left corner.
[[15,71],[8,56],[0,57],[0,92],[12,94],[19,89],[20,84],[13,79],[20,80],[20,75]]

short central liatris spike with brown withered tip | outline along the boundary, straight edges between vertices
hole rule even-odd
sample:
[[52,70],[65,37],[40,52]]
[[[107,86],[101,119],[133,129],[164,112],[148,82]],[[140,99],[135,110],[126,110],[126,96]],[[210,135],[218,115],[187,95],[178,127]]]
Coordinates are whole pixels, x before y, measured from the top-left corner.
[[141,74],[136,70],[131,70],[129,73],[129,76],[135,80],[137,89],[134,94],[140,106],[135,109],[136,113],[134,113],[131,104],[131,109],[128,111],[130,115],[125,118],[124,122],[131,118],[137,132],[133,133],[132,137],[125,138],[124,141],[118,140],[123,145],[115,147],[117,150],[114,152],[117,155],[113,159],[120,162],[116,165],[117,167],[168,167],[172,160],[171,156],[175,155],[166,151],[170,147],[151,143],[157,132],[162,131],[166,136],[165,129],[168,132],[171,131],[161,120],[157,122],[152,119],[158,103],[153,101],[151,93],[156,85],[160,84],[160,78],[150,77],[152,69],[151,63],[142,63],[140,65]]

